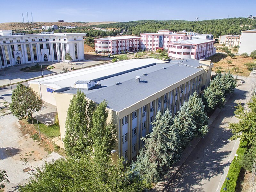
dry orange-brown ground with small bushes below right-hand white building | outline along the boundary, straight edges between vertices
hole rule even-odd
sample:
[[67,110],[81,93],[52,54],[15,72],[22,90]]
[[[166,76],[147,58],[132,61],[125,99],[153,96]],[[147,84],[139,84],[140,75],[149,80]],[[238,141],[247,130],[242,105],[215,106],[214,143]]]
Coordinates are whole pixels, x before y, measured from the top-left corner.
[[[224,55],[221,53],[216,53],[208,59],[212,60],[212,62],[214,63],[213,71],[216,71],[216,68],[220,66],[220,70],[222,72],[227,72],[228,70],[230,70],[231,73],[239,76],[249,76],[250,71],[247,70],[247,67],[244,66],[244,64],[249,62],[255,62],[255,60],[250,57],[243,58],[236,55],[235,58],[231,58],[228,55]],[[232,64],[228,65],[228,60],[230,60]],[[235,71],[234,67],[238,67],[238,69],[236,69]]]

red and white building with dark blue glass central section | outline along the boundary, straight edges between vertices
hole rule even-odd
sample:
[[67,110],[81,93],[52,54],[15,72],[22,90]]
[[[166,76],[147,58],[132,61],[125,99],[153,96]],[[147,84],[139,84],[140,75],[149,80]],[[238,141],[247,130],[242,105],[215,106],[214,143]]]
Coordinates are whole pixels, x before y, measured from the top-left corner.
[[170,42],[192,39],[192,35],[173,33],[169,30],[159,30],[158,33],[141,33],[141,49],[156,51],[156,49],[166,49]]

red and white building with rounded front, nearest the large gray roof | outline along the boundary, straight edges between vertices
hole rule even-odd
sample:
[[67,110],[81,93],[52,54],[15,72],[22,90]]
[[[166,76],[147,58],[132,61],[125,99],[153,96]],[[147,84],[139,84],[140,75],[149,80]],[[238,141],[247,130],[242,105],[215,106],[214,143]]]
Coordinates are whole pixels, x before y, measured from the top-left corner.
[[170,42],[168,56],[172,59],[205,59],[216,53],[214,40],[191,39]]

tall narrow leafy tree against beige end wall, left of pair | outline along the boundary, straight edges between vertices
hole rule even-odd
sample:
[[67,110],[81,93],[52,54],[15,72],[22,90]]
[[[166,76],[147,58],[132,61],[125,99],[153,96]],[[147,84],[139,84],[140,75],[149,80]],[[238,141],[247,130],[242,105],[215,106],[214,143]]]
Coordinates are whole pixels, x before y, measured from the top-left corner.
[[89,151],[92,140],[89,137],[91,117],[94,109],[92,101],[88,102],[81,90],[73,96],[67,111],[66,134],[64,146],[69,157],[80,158]]

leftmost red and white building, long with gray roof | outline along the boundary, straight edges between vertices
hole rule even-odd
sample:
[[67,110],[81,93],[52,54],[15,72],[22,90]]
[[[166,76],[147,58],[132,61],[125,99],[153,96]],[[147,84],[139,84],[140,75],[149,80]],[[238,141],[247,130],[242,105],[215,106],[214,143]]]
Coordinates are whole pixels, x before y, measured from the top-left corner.
[[95,52],[108,52],[112,55],[140,50],[140,37],[116,36],[94,39]]

